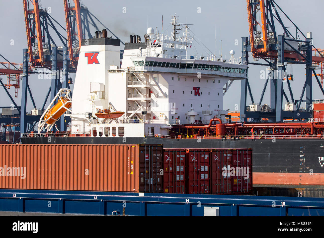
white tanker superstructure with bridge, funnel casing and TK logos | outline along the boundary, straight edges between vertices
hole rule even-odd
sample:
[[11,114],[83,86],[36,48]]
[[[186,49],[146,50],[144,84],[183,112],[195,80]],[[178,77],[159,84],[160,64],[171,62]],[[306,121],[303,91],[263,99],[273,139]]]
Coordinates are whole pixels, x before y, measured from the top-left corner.
[[[215,55],[191,52],[190,24],[172,16],[172,35],[149,28],[143,42],[134,35],[119,40],[82,40],[72,97],[71,133],[141,137],[168,134],[167,125],[205,123],[225,118],[223,96],[234,80],[246,77],[247,65]],[[180,29],[183,36],[179,36]],[[133,41],[133,42],[132,42]],[[117,120],[95,117],[96,109],[125,112]],[[162,127],[162,128],[161,128]]]

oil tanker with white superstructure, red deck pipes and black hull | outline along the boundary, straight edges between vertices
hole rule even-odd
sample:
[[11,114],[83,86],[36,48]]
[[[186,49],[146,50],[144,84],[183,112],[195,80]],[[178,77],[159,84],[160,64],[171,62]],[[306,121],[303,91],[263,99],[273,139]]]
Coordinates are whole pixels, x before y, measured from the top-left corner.
[[[143,41],[131,35],[121,62],[119,40],[99,34],[83,39],[73,96],[61,89],[38,132],[22,134],[21,142],[252,148],[254,185],[323,186],[323,119],[232,122],[223,96],[234,81],[247,77],[248,65],[235,59],[234,51],[229,60],[191,52],[190,26],[176,16],[171,25],[171,36],[153,28]],[[64,113],[71,125],[54,132]]]

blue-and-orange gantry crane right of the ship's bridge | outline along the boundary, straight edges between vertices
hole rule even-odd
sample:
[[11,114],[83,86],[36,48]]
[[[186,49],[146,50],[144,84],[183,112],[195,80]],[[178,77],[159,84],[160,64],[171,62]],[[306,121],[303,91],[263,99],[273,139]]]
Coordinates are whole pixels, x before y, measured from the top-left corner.
[[[282,12],[279,14],[278,10]],[[241,114],[245,114],[246,118],[269,118],[272,121],[282,121],[283,119],[307,119],[311,117],[312,104],[312,75],[315,76],[318,85],[324,95],[322,83],[318,79],[314,68],[318,68],[324,61],[323,53],[316,49],[312,44],[312,33],[307,32],[305,35],[295,23],[284,13],[283,9],[277,5],[274,0],[247,0],[248,22],[249,22],[249,39],[242,38],[242,61],[252,65],[269,66],[271,72],[276,74],[268,74],[261,93],[260,104],[263,99],[265,89],[270,81],[271,87],[271,108],[275,115],[265,115],[262,112],[249,112],[246,109],[247,88],[249,88],[248,79],[244,79],[241,85]],[[284,16],[283,16],[284,15]],[[293,35],[288,28],[285,27],[282,19],[289,21],[296,29]],[[278,35],[276,27],[280,26],[283,35]],[[278,27],[277,27],[278,28]],[[301,36],[300,36],[301,35]],[[305,40],[301,40],[301,37]],[[254,60],[263,59],[265,63],[249,62],[248,51],[251,52]],[[312,55],[316,51],[317,55]],[[293,93],[290,87],[292,75],[286,73],[288,64],[305,64],[306,80],[300,95],[299,103],[294,111],[283,111],[283,96],[289,103],[289,98],[283,89],[283,80],[286,79],[287,86],[292,103],[294,103]],[[278,77],[278,72],[281,75]],[[288,79],[288,80],[287,80]],[[289,80],[290,79],[290,80]],[[322,80],[321,80],[322,81]],[[300,103],[306,91],[306,110],[300,110]],[[252,94],[249,90],[249,94]],[[248,115],[247,115],[248,114]]]

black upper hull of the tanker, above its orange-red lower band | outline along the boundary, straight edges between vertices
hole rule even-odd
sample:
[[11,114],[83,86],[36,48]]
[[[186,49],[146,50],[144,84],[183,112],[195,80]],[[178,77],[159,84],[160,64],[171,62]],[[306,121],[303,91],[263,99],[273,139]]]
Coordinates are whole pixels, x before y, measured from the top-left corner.
[[253,172],[324,173],[322,139],[166,139],[156,137],[28,137],[23,144],[163,144],[164,148],[252,148]]

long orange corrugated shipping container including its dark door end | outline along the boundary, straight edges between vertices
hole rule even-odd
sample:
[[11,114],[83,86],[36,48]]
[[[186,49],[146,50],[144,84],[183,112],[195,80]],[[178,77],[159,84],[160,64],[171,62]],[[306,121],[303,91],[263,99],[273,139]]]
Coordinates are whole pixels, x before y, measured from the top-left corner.
[[161,145],[0,145],[0,188],[161,192],[162,181],[154,178],[162,150]]

